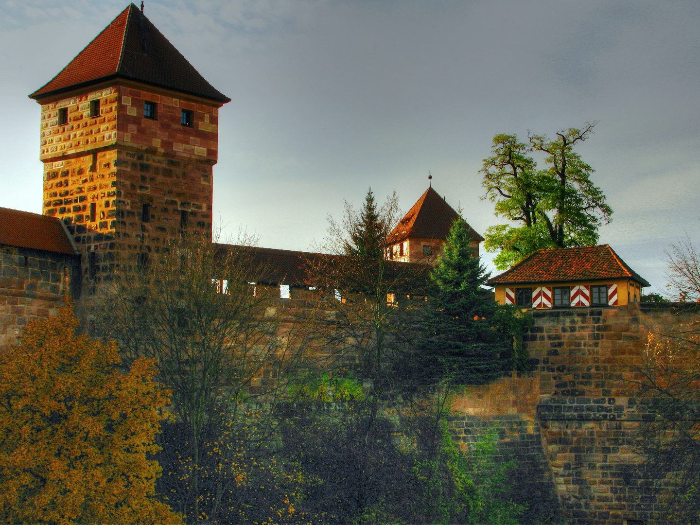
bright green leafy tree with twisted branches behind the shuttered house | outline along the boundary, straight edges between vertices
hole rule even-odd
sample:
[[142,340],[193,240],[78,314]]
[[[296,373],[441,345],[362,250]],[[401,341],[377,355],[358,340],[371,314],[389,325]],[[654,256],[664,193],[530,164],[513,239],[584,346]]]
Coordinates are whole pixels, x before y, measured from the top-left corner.
[[[495,202],[498,216],[510,224],[486,230],[484,248],[499,251],[494,259],[498,269],[506,269],[540,248],[589,246],[598,241],[598,228],[610,222],[612,209],[605,195],[594,186],[594,170],[574,151],[587,140],[596,123],[583,130],[570,128],[556,133],[556,139],[529,135],[529,144],[514,135],[493,137],[493,155],[484,159],[482,185]],[[544,153],[546,169],[537,169],[528,156]]]

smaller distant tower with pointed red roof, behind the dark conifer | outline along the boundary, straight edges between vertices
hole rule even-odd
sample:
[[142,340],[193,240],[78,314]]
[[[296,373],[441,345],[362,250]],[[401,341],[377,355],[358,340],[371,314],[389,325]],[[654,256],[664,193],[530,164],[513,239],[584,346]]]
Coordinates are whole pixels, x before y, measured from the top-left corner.
[[400,262],[426,262],[433,264],[442,253],[444,241],[454,221],[463,221],[471,236],[475,257],[479,256],[479,243],[484,237],[475,232],[459,214],[440,197],[432,187],[428,188],[416,204],[402,218],[393,232],[388,258]]

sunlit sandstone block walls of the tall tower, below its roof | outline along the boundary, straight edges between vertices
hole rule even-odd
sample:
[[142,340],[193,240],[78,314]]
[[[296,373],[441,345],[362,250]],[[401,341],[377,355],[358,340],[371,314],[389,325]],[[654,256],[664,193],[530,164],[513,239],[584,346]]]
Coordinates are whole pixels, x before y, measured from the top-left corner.
[[[43,214],[68,225],[81,248],[86,295],[183,231],[211,235],[221,104],[144,87],[118,81],[42,101]],[[146,102],[155,104],[153,118]]]

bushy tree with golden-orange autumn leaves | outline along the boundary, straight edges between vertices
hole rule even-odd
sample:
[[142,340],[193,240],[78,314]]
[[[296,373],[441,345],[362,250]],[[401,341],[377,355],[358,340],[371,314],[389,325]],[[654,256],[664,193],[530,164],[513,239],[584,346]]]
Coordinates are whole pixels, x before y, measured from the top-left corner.
[[153,363],[120,372],[116,346],[77,326],[66,307],[0,356],[0,521],[181,524],[154,498],[167,398]]

